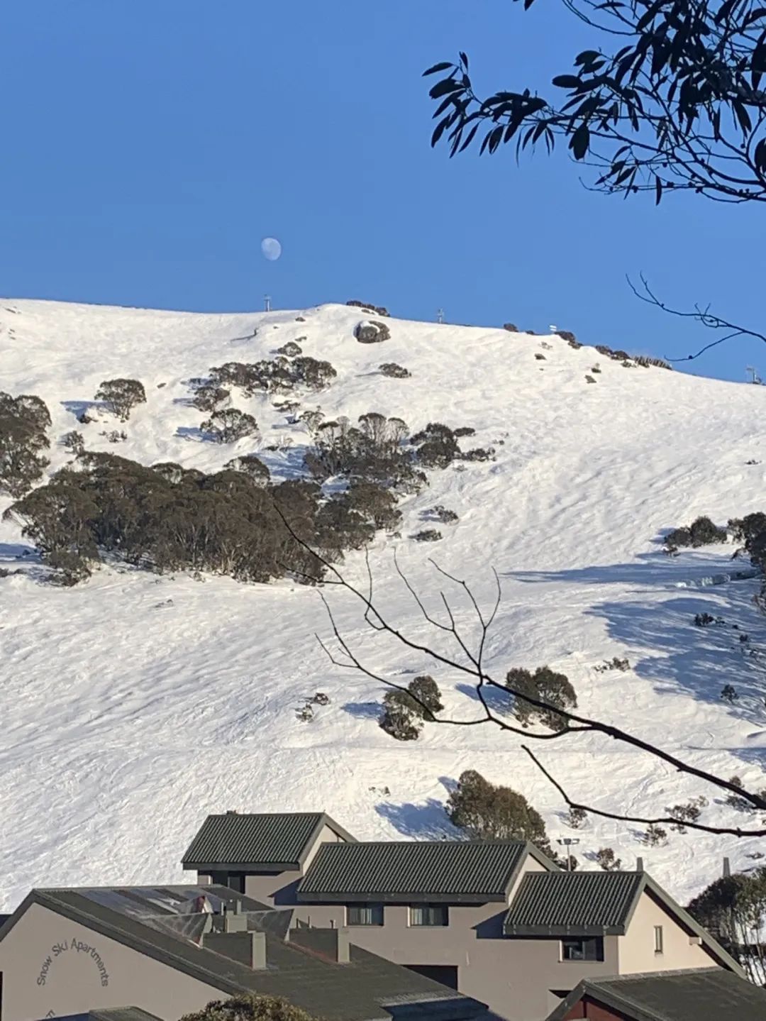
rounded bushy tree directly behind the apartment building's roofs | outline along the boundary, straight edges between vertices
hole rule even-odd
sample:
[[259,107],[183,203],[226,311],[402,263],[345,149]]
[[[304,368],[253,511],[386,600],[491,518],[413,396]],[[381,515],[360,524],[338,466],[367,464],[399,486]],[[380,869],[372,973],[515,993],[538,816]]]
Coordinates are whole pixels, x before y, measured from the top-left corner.
[[447,815],[474,839],[530,840],[552,854],[543,818],[524,795],[490,783],[475,770],[460,774],[447,801]]

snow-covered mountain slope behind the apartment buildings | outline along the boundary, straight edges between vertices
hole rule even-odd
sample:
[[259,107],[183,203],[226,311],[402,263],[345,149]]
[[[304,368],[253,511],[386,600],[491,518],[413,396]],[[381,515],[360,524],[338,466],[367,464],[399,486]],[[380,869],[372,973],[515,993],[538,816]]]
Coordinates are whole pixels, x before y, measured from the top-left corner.
[[[700,514],[725,523],[763,508],[764,467],[747,463],[764,455],[766,390],[628,370],[558,337],[501,330],[390,320],[390,340],[363,345],[353,336],[363,318],[339,305],[202,315],[5,301],[0,389],[47,402],[51,470],[65,463],[57,441],[73,428],[92,449],[210,470],[253,444],[202,441],[186,381],[305,338],[304,353],[329,360],[338,378],[304,406],[352,420],[382,411],[413,430],[429,421],[472,426],[468,445],[496,448],[494,461],[430,473],[428,490],[402,504],[402,538],[375,541],[379,597],[408,634],[439,640],[396,577],[395,547],[413,584],[433,597],[444,579],[429,556],[486,601],[495,568],[503,602],[492,671],[550,664],[569,676],[585,713],[766,787],[760,660],[745,654],[736,631],[692,624],[702,611],[720,615],[758,646],[757,582],[678,587],[725,570],[731,546],[669,560],[658,542],[663,529]],[[412,378],[379,375],[381,361]],[[602,371],[589,385],[596,361]],[[99,433],[116,424],[80,427],[74,416],[115,376],[140,379],[148,401],[123,427],[126,441],[112,446]],[[256,416],[272,474],[295,474],[303,428],[287,425],[267,397],[236,404]],[[292,447],[263,452],[286,437]],[[8,502],[0,499],[0,512]],[[441,526],[438,544],[413,542],[437,503],[459,522]],[[41,583],[34,557],[20,555],[27,547],[15,526],[0,525],[0,562],[24,569],[0,579],[0,908],[33,885],[178,880],[202,819],[226,809],[323,809],[366,838],[449,832],[442,806],[467,768],[523,791],[554,839],[576,835],[586,867],[604,845],[627,867],[642,855],[681,900],[719,873],[724,855],[734,867],[755,864],[756,840],[673,833],[668,846],[647,848],[641,827],[594,819],[572,834],[519,740],[487,727],[430,725],[416,742],[393,740],[375,723],[379,686],[337,670],[319,649],[314,632],[326,637],[329,627],[315,590],[112,568],[62,590]],[[345,570],[355,578],[361,566],[353,554]],[[372,639],[358,607],[324,591],[370,667],[399,679],[433,673],[451,714],[476,714],[465,678]],[[460,623],[472,628],[453,594]],[[614,655],[631,669],[596,671]],[[719,697],[724,683],[739,692],[733,707]],[[317,690],[330,704],[300,722],[296,708]],[[535,749],[574,796],[599,807],[652,813],[705,793],[706,819],[754,818],[614,742],[589,735]]]

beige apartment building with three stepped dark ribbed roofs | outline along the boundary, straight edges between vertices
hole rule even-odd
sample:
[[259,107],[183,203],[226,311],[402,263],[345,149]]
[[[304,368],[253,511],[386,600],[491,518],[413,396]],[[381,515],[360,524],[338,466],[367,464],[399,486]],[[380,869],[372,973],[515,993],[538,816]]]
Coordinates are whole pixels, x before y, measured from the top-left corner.
[[200,883],[348,928],[360,947],[543,1021],[585,979],[736,962],[644,871],[562,872],[521,841],[357,841],[322,813],[209,816]]

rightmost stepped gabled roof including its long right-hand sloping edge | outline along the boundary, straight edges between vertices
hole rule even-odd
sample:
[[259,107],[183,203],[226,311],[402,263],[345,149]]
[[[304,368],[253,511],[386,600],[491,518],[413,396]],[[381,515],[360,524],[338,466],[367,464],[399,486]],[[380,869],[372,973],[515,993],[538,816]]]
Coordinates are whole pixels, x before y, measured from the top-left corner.
[[505,917],[507,936],[625,935],[648,893],[724,968],[743,969],[687,911],[646,872],[529,872]]

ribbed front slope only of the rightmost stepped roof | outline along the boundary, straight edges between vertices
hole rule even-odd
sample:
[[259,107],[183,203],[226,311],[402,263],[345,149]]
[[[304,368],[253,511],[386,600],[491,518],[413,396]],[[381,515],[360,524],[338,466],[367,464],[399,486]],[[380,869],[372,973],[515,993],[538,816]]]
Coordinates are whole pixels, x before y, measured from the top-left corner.
[[644,872],[528,872],[508,914],[508,935],[624,935]]

